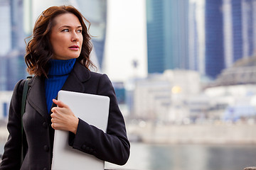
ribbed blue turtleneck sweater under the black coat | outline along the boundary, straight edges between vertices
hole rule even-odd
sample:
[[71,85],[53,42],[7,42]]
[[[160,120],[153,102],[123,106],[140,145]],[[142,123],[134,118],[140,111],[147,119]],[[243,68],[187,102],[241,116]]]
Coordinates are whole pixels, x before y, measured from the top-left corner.
[[70,60],[50,60],[50,70],[48,79],[45,81],[46,89],[46,105],[48,113],[53,104],[53,98],[56,98],[58,91],[63,87],[63,84],[68,78],[76,59]]

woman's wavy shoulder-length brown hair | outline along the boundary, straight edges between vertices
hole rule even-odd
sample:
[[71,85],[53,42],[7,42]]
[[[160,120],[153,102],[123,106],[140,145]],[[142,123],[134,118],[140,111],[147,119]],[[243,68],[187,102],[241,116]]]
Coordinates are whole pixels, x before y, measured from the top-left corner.
[[[50,45],[50,31],[54,26],[53,19],[63,13],[75,14],[82,25],[82,50],[77,60],[87,69],[90,66],[95,67],[90,60],[90,52],[92,51],[91,37],[88,33],[90,22],[73,6],[51,6],[38,17],[33,28],[33,35],[31,35],[32,39],[26,45],[25,62],[29,74],[47,77],[50,68],[49,60],[53,57],[53,47]],[[89,23],[88,29],[84,21]]]

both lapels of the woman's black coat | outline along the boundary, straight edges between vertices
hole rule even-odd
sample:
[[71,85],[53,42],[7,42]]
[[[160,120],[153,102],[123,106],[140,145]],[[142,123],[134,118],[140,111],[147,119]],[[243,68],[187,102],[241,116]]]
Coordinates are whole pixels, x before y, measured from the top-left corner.
[[[68,79],[65,81],[62,90],[84,92],[83,83],[90,79],[90,71],[80,62],[76,61],[73,70],[70,72]],[[28,103],[38,111],[43,117],[48,113],[46,106],[46,91],[44,87],[44,77],[35,76],[29,81],[28,86]]]

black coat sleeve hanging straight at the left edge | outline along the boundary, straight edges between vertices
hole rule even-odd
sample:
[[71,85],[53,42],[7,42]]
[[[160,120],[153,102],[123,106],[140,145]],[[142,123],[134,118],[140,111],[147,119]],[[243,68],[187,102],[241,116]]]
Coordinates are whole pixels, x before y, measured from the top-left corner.
[[[21,80],[22,81],[22,80]],[[18,81],[11,97],[7,130],[9,137],[4,146],[0,170],[20,169],[21,167],[21,97],[23,83]]]

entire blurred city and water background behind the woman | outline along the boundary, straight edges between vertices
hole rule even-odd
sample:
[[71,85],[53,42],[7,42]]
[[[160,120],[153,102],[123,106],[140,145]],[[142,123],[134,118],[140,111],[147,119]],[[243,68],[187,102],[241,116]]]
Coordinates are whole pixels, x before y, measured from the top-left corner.
[[[25,79],[25,38],[49,6],[91,23],[92,61],[114,86],[126,169],[256,166],[256,0],[0,0],[0,151]],[[92,70],[93,71],[93,70]]]

